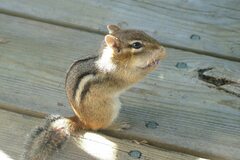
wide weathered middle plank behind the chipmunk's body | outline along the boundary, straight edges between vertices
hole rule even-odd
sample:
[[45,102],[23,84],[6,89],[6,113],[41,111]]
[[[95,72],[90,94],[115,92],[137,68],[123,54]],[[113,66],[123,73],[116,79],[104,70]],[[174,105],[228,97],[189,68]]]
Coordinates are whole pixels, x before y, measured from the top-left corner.
[[[0,104],[72,114],[64,92],[65,71],[77,57],[94,53],[103,37],[5,15],[0,15],[0,21],[4,22],[0,23],[0,38],[8,41],[0,44]],[[224,73],[236,81],[222,86],[239,86],[240,64],[167,51],[157,71],[121,97],[119,120],[129,121],[132,128],[107,134],[204,157],[238,159],[240,99],[198,75],[200,69],[215,68],[213,76]]]

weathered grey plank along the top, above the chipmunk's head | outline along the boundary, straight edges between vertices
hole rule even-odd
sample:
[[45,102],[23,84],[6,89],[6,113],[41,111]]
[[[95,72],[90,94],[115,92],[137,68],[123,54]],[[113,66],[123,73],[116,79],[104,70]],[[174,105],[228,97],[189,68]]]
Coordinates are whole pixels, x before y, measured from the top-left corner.
[[0,0],[0,12],[90,31],[139,28],[169,46],[240,61],[239,0]]

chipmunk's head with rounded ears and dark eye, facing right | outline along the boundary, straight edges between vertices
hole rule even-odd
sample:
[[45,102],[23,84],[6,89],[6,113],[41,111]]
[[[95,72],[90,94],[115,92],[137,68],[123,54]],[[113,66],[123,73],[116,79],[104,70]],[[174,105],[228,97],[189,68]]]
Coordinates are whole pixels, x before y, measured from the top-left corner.
[[[116,25],[107,26],[101,55],[108,71],[124,69],[134,74],[148,73],[164,58],[165,49],[160,43],[139,30],[122,30]],[[104,64],[102,64],[104,66]]]

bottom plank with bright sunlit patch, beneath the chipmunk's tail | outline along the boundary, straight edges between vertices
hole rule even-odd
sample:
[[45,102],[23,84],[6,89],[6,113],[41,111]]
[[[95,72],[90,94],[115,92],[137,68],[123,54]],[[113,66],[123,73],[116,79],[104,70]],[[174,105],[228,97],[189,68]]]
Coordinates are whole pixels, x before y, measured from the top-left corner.
[[[41,119],[0,110],[0,158],[19,159],[23,152],[24,138],[39,125]],[[13,141],[14,139],[14,141]],[[83,131],[71,139],[53,159],[61,160],[126,160],[136,159],[131,151],[141,153],[139,159],[149,160],[197,160],[199,157],[143,146],[128,140],[112,138],[94,132]],[[136,152],[137,153],[137,152]],[[131,157],[132,155],[133,157]],[[135,156],[138,156],[137,154]]]

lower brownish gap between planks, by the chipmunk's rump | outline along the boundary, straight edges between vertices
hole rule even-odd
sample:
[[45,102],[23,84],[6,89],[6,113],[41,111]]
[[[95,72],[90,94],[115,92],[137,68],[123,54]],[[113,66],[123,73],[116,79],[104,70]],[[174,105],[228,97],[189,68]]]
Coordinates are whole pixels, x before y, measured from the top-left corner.
[[[28,110],[28,109],[22,109],[21,107],[17,107],[17,106],[14,106],[14,105],[9,105],[9,104],[2,104],[2,103],[0,104],[0,110],[5,110],[5,111],[30,116],[30,117],[33,117],[33,118],[40,118],[40,119],[44,119],[47,115],[49,115],[49,114],[46,114],[46,113],[36,112],[36,111]],[[131,135],[128,136],[126,134],[121,134],[120,132],[115,132],[115,131],[110,131],[110,130],[99,131],[99,133],[103,133],[103,134],[105,134],[107,136],[110,136],[110,137],[113,137],[113,138],[129,140],[129,141],[132,141],[132,142],[134,142],[134,141],[137,141],[137,142],[144,141],[143,139],[141,139],[141,137],[136,137],[136,136],[131,136]],[[190,150],[190,149],[178,147],[178,146],[175,146],[175,145],[169,145],[169,144],[166,144],[166,143],[147,141],[146,144],[143,143],[141,145],[155,147],[155,148],[168,150],[168,151],[173,151],[173,152],[178,152],[178,153],[183,153],[183,154],[196,156],[196,157],[202,157],[202,158],[204,158],[203,160],[205,160],[205,158],[207,158],[206,160],[208,160],[208,158],[216,159],[216,160],[225,160],[222,157],[197,152],[195,150]]]

